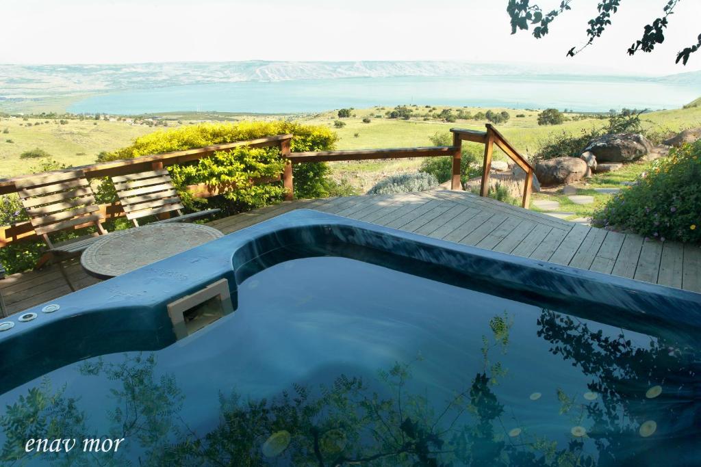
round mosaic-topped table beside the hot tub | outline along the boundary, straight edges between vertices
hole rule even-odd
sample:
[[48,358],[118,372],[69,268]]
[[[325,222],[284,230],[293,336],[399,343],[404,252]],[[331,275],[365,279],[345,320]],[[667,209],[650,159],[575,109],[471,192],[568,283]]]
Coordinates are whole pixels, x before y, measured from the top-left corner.
[[207,225],[156,223],[111,232],[81,256],[88,274],[109,279],[223,237]]

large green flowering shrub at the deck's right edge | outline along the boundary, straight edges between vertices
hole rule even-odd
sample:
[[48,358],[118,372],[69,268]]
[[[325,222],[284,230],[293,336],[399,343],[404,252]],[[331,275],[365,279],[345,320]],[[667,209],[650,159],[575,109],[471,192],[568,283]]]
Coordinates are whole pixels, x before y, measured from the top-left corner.
[[593,221],[662,241],[701,242],[701,141],[655,160],[634,186],[595,211]]

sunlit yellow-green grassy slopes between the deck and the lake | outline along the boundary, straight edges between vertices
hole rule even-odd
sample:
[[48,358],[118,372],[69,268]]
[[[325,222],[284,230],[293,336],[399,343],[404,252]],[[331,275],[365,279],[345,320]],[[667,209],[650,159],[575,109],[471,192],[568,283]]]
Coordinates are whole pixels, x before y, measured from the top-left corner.
[[[701,100],[701,99],[700,99]],[[693,104],[693,103],[692,103]],[[670,111],[657,111],[644,115],[645,127],[654,128],[660,134],[678,132],[684,128],[701,126],[701,106],[687,106],[686,109]],[[411,107],[415,113],[427,113],[429,109],[424,106]],[[440,113],[443,109],[452,109],[454,113],[463,110],[472,113],[484,112],[485,108],[458,108],[449,106],[435,106],[431,115]],[[499,130],[511,143],[524,155],[533,155],[538,151],[540,141],[547,138],[553,132],[580,132],[583,129],[606,125],[606,120],[597,118],[584,118],[578,121],[565,122],[562,125],[539,126],[538,111],[524,111],[515,109],[491,108],[494,111],[508,111],[511,118],[507,123],[498,125]],[[240,113],[191,113],[173,112],[161,113],[158,116],[168,118],[170,125],[177,125],[176,120],[182,120],[189,124],[197,120],[244,120],[272,118],[292,118],[302,123],[327,125],[339,134],[339,149],[366,149],[366,148],[402,148],[414,146],[430,146],[429,137],[437,132],[448,133],[452,127],[468,128],[471,130],[484,130],[485,121],[458,120],[455,123],[445,123],[438,120],[423,121],[423,118],[411,120],[395,120],[384,117],[384,113],[391,110],[390,107],[373,107],[370,109],[353,109],[351,118],[343,118],[346,126],[340,129],[334,128],[334,121],[339,120],[337,111],[327,111],[313,115],[244,115]],[[522,113],[524,118],[516,118]],[[381,114],[383,118],[375,118]],[[363,123],[363,118],[370,118],[370,123]],[[41,148],[50,153],[55,160],[67,165],[84,165],[95,162],[97,153],[111,151],[127,146],[130,142],[142,134],[162,130],[163,127],[131,126],[124,122],[100,121],[94,125],[95,120],[69,120],[68,125],[57,125],[53,120],[50,123],[34,126],[36,120],[30,118],[24,121],[22,118],[0,118],[0,132],[8,128],[10,133],[2,134],[0,139],[0,176],[15,176],[27,173],[26,160],[20,160],[20,154],[33,148]],[[25,126],[31,123],[32,126]],[[355,137],[358,134],[358,137]],[[11,139],[13,143],[4,142]],[[463,143],[475,146],[475,151],[482,151],[482,145],[475,143]],[[506,156],[498,149],[495,150],[495,160],[505,160]],[[402,160],[376,160],[362,162],[332,162],[336,179],[348,179],[353,186],[365,192],[379,180],[388,175],[416,172],[421,165],[421,159]],[[627,169],[622,172],[607,175],[611,177],[625,177]],[[633,177],[634,178],[634,177]],[[592,182],[593,183],[593,182]],[[599,185],[597,185],[598,187]],[[601,187],[604,187],[601,185]],[[597,196],[597,199],[599,197]],[[603,198],[602,198],[603,199]],[[569,207],[569,201],[562,202],[562,206]],[[587,214],[591,209],[572,207],[572,211]]]

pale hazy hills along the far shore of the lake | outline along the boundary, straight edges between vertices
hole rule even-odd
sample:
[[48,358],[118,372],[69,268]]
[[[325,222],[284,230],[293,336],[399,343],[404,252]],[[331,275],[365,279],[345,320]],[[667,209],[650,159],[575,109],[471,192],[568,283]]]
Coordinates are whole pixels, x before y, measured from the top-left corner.
[[[571,67],[571,76],[611,74]],[[172,62],[104,65],[0,64],[0,97],[36,98],[76,92],[164,88],[238,81],[397,76],[557,76],[561,67],[470,62]]]

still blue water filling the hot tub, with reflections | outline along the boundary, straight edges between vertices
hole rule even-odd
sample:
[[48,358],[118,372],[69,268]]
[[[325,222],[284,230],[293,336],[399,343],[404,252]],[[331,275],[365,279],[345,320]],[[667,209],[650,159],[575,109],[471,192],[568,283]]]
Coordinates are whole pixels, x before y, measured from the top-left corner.
[[[1,459],[692,465],[698,357],[674,337],[356,260],[297,259],[243,281],[236,312],[168,348],[90,358],[0,396]],[[25,452],[36,438],[77,442]],[[96,438],[123,441],[83,452]]]

